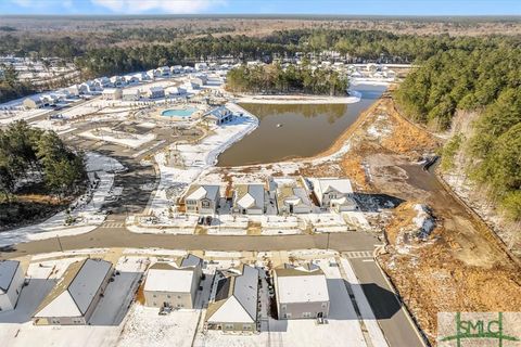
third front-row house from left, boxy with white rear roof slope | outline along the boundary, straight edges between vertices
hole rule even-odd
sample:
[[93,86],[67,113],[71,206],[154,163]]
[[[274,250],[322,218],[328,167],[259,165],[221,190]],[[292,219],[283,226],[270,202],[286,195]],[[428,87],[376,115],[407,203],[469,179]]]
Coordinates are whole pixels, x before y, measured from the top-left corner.
[[202,266],[194,255],[151,266],[143,288],[145,306],[194,308]]

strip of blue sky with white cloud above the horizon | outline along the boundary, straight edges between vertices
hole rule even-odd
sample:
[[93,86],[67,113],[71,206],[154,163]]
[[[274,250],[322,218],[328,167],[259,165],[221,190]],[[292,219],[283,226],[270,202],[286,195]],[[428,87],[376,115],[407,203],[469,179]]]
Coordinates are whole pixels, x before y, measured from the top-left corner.
[[521,0],[0,0],[0,14],[521,15]]

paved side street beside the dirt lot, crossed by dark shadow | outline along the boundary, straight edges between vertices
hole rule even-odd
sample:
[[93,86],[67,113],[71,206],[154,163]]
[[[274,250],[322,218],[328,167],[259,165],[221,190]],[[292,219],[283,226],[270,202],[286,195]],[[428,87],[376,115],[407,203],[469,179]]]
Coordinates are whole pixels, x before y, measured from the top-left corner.
[[401,301],[372,259],[350,259],[391,347],[424,346]]

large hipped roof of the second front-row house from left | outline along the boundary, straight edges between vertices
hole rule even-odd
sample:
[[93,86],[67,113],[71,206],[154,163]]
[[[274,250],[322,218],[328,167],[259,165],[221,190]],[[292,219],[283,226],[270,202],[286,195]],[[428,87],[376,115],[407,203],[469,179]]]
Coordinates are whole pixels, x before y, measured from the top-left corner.
[[36,310],[35,317],[81,317],[92,304],[112,264],[101,259],[73,262]]

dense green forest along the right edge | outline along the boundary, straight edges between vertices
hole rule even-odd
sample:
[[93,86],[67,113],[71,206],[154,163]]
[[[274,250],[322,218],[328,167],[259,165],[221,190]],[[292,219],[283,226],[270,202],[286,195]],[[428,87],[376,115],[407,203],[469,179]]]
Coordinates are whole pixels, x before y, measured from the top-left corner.
[[442,168],[457,165],[484,188],[507,217],[521,219],[521,48],[507,43],[441,51],[412,70],[396,92],[403,111],[434,130],[458,112],[475,114],[443,150]]

